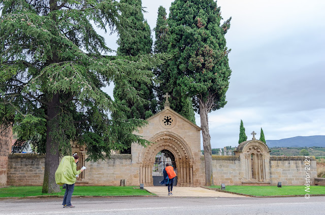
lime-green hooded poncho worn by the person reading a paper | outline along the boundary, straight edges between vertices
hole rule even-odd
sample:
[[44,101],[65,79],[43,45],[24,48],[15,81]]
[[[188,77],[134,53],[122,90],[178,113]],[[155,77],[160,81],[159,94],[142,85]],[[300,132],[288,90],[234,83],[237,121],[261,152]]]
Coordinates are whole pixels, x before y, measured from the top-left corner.
[[55,182],[58,185],[75,184],[77,180],[76,175],[80,174],[80,172],[80,170],[77,171],[75,158],[72,156],[64,156],[55,172]]

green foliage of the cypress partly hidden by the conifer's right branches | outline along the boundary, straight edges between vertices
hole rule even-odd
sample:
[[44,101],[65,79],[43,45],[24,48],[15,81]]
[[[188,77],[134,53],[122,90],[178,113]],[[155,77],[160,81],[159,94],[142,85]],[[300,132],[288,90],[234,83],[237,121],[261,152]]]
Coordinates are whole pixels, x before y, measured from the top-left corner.
[[[121,4],[128,5],[132,7],[132,10],[122,12],[122,16],[126,17],[130,30],[124,31],[118,28],[119,39],[117,44],[119,45],[117,49],[118,56],[125,56],[129,59],[132,57],[150,54],[152,39],[150,27],[146,20],[144,20],[142,14],[142,1],[141,0],[121,0]],[[150,67],[148,66],[149,70]],[[153,74],[151,74],[151,78]],[[147,119],[153,114],[156,113],[157,102],[153,92],[153,80],[148,82],[146,80],[134,80],[129,83],[132,88],[139,91],[141,99],[130,99],[127,97],[127,89],[123,88],[123,82],[115,82],[115,87],[113,95],[115,101],[125,106],[125,109],[122,110],[123,113],[112,114],[114,120],[123,119],[123,120],[135,120],[135,119]],[[124,115],[124,116],[122,116]],[[118,123],[118,125],[120,125]],[[121,153],[130,153],[131,144],[133,142],[132,138],[127,138],[129,136],[128,132],[132,130],[129,129],[118,129],[116,137],[119,138],[119,141],[124,142],[124,145],[127,148],[121,149]]]

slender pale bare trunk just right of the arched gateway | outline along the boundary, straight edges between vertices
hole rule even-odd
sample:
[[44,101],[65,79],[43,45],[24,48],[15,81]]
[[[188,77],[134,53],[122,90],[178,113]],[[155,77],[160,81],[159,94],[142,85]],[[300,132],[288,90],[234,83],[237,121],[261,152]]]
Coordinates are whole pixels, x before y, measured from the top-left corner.
[[203,138],[204,150],[204,166],[205,166],[205,186],[213,185],[213,170],[212,170],[212,150],[211,136],[209,133],[208,108],[207,103],[200,101],[200,119]]

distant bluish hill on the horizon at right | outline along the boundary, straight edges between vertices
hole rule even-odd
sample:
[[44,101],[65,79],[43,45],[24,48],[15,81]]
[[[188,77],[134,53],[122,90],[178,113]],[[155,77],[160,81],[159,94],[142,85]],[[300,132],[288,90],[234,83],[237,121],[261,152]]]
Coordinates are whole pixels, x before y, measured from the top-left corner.
[[272,147],[325,147],[325,135],[295,136],[279,140],[266,140],[269,148]]

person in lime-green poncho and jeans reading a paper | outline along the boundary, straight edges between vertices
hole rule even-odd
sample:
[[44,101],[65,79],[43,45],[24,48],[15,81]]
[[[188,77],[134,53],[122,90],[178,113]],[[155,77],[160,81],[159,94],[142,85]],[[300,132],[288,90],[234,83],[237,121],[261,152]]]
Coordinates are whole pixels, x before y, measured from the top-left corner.
[[75,189],[75,183],[77,176],[83,169],[77,171],[77,162],[79,161],[79,156],[64,156],[55,172],[55,182],[58,185],[67,184],[66,193],[63,197],[63,207],[64,208],[73,208],[71,204],[71,197],[73,190]]

